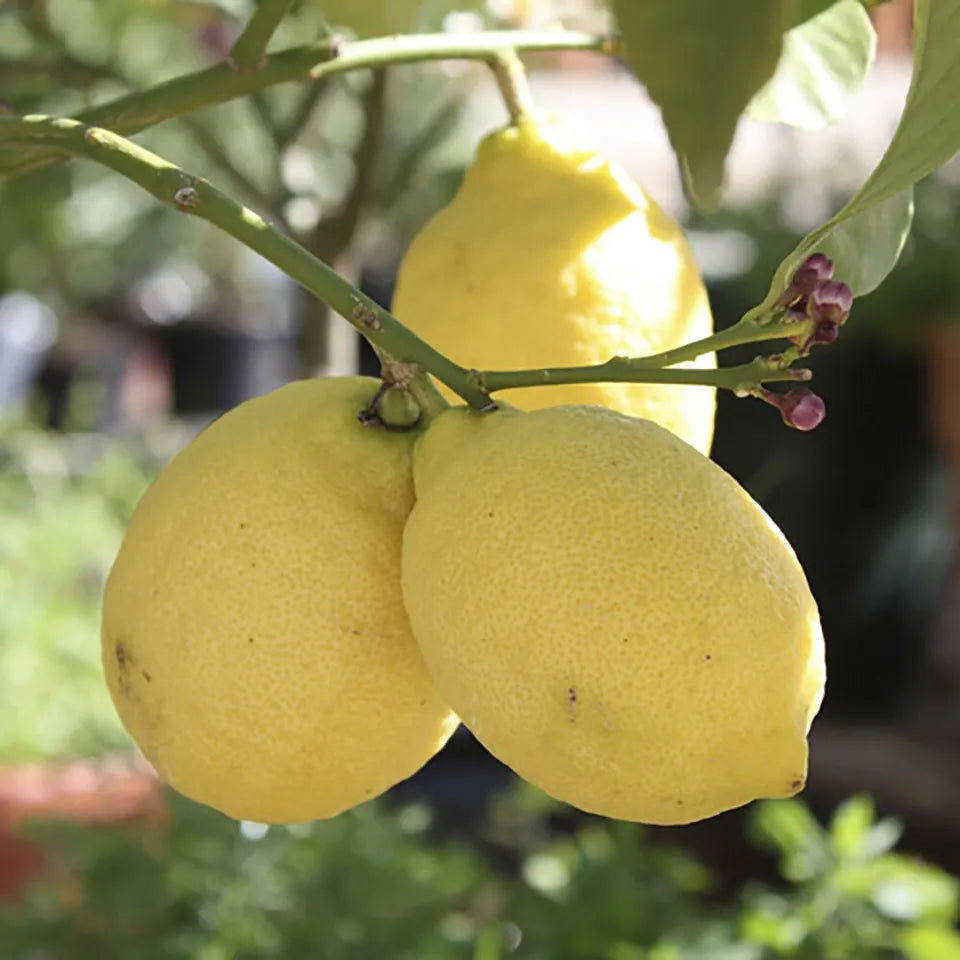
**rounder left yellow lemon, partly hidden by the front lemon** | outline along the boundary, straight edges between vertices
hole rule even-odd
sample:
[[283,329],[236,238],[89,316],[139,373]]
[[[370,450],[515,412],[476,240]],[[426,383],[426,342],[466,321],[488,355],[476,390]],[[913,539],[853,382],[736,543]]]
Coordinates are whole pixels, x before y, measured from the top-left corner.
[[331,817],[447,740],[400,590],[412,433],[361,425],[377,382],[289,384],[202,431],[137,506],[107,581],[121,719],[188,797]]

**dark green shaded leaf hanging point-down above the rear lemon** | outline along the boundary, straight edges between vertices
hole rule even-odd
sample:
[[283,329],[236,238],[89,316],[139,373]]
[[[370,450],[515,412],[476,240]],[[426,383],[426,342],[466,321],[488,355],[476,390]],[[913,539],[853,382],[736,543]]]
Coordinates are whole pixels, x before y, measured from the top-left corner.
[[737,120],[780,57],[783,0],[613,0],[623,58],[663,113],[690,200],[716,206]]

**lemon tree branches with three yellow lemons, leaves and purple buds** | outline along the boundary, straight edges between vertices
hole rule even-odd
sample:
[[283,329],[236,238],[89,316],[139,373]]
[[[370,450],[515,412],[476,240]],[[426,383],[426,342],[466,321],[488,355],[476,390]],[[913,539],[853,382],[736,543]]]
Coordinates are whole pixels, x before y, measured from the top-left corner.
[[[609,33],[397,33],[458,5],[407,6],[321,3],[334,29],[284,46],[295,5],[261,0],[212,66],[76,115],[0,117],[0,175],[100,164],[275,264],[381,362],[379,380],[241,405],[162,472],[105,595],[118,711],[172,785],[265,822],[383,792],[458,721],[610,817],[688,823],[795,794],[823,638],[790,546],[706,456],[714,392],[821,422],[806,359],[883,282],[913,185],[960,147],[960,0],[917,0],[886,153],[719,332],[680,228],[542,114],[524,56],[619,58],[709,213],[745,111],[836,118],[872,57],[864,6],[613,0]],[[241,98],[269,113],[281,84],[309,97],[335,74],[427,60],[488,65],[509,122],[411,246],[393,312],[282,217],[134,139]],[[723,363],[750,344],[753,360]]]

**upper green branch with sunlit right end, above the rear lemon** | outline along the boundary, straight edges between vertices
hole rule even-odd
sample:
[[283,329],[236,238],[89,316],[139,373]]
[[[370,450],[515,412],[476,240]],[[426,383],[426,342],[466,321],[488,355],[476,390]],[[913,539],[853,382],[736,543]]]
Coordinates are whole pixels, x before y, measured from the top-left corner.
[[[326,39],[266,57],[254,71],[237,71],[220,63],[127,94],[81,113],[85,124],[109,127],[116,133],[137,133],[203,107],[248,96],[280,83],[312,83],[348,70],[417,63],[424,60],[490,60],[505,50],[594,50],[607,52],[607,38],[566,30],[501,30],[473,34],[420,34],[381,37],[342,43]],[[63,154],[38,138],[33,149],[10,151],[0,141],[0,175],[27,170],[63,159]],[[10,142],[9,139],[7,141]]]

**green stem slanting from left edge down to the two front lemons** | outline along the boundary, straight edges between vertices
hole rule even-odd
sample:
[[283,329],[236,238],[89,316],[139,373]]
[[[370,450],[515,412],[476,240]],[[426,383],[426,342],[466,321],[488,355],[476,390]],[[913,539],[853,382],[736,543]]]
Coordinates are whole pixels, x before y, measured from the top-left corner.
[[3,140],[27,144],[41,141],[64,154],[95,160],[143,187],[162,203],[215,224],[349,320],[380,351],[410,365],[406,379],[414,379],[423,367],[471,405],[482,407],[489,403],[489,397],[477,388],[467,370],[438,353],[259,214],[207,181],[190,176],[109,130],[88,127],[77,120],[42,116],[0,118],[0,141]]

